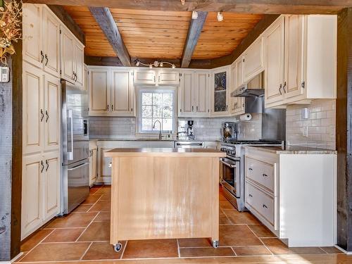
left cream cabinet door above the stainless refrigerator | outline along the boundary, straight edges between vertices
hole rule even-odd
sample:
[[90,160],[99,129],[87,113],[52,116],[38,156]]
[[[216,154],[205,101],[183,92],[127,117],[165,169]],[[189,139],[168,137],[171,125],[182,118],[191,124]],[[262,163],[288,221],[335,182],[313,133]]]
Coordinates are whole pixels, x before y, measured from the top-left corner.
[[70,82],[73,81],[74,43],[73,34],[61,27],[61,77]]

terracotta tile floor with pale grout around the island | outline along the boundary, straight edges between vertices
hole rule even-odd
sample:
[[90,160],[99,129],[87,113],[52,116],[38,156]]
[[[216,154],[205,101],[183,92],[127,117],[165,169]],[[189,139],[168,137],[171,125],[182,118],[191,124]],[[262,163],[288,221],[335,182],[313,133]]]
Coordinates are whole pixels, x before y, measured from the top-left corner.
[[208,239],[161,239],[122,241],[122,250],[116,253],[109,244],[110,197],[111,187],[92,187],[90,196],[73,213],[51,220],[24,241],[21,251],[25,254],[18,263],[341,253],[334,247],[287,248],[251,213],[235,210],[221,191],[218,249]]

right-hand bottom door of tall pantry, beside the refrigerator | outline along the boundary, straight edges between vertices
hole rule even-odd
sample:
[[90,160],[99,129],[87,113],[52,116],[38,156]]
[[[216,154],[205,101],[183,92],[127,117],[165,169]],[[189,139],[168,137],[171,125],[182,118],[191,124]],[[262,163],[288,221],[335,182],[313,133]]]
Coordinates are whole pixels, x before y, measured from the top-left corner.
[[48,153],[44,174],[44,221],[53,218],[60,210],[60,159],[59,152]]

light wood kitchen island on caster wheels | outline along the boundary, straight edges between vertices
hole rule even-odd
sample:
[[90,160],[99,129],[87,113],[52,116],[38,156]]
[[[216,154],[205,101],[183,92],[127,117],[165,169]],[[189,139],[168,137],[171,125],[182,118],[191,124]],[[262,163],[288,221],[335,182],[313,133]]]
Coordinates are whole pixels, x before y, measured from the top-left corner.
[[111,244],[122,240],[219,241],[219,158],[215,149],[113,149]]

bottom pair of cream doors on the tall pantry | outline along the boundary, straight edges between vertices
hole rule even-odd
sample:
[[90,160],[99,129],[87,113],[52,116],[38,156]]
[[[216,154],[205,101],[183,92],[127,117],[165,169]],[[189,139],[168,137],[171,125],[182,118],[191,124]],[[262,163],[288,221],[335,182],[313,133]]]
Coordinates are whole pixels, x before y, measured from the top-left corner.
[[59,151],[54,151],[23,157],[21,239],[59,213],[59,155]]

